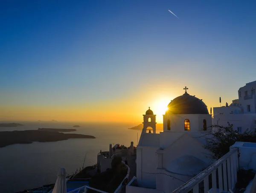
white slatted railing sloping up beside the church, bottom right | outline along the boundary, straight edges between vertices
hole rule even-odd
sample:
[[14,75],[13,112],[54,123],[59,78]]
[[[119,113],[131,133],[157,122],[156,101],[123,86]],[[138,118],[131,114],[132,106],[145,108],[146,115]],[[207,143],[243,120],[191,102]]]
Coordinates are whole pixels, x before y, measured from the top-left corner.
[[203,190],[201,192],[204,193],[209,193],[210,175],[210,181],[212,181],[212,190],[210,192],[217,193],[217,190],[218,193],[232,191],[237,182],[237,170],[238,148],[233,148],[206,170],[178,187],[172,193],[188,193],[190,190],[193,190],[193,193],[199,193],[199,190]]

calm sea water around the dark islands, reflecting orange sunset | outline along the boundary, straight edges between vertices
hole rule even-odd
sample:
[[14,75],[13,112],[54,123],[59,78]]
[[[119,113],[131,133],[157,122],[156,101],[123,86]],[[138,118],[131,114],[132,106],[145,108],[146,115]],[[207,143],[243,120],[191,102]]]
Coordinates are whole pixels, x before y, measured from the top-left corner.
[[0,148],[0,193],[15,193],[25,189],[55,183],[60,167],[73,173],[84,166],[96,164],[97,153],[107,151],[109,144],[137,145],[137,132],[128,130],[128,124],[85,124],[54,122],[19,122],[23,127],[0,127],[0,131],[37,130],[38,127],[72,128],[79,124],[76,132],[93,135],[96,139],[68,139],[57,142],[34,142],[14,144]]

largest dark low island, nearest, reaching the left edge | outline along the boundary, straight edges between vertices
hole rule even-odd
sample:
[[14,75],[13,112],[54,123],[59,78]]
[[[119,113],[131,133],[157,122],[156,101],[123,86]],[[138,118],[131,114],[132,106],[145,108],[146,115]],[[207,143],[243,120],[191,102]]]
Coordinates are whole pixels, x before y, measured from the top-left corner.
[[92,135],[82,135],[75,133],[58,133],[41,130],[24,131],[2,131],[0,132],[0,147],[6,147],[12,144],[31,144],[34,141],[52,142],[62,141],[69,138],[95,138]]

